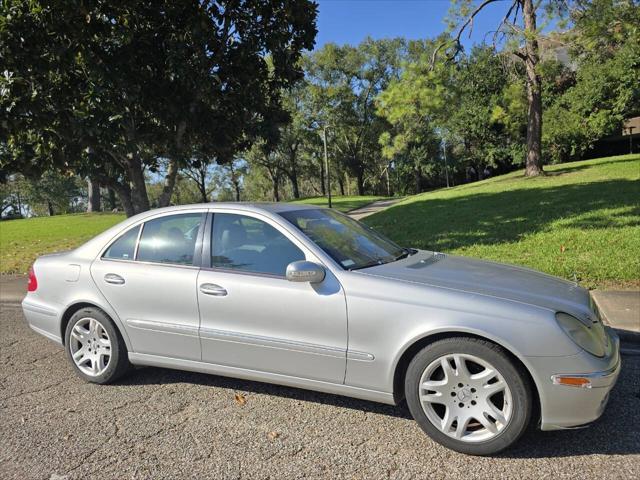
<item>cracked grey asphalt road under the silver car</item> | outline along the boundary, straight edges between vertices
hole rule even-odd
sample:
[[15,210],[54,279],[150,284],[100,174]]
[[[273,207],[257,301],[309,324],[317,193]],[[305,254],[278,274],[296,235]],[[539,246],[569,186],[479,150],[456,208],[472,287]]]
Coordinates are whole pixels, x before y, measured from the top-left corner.
[[640,478],[640,356],[591,428],[476,458],[429,440],[406,407],[154,368],[88,384],[17,306],[0,309],[2,479]]

